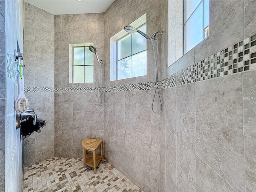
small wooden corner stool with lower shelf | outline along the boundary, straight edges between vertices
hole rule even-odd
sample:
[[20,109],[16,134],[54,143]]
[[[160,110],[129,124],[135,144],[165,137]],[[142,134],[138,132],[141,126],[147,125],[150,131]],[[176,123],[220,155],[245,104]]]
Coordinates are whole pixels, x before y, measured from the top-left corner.
[[[86,165],[94,168],[94,173],[96,173],[96,167],[98,166],[100,160],[103,160],[103,139],[83,139],[82,146],[84,147],[84,168]],[[95,151],[100,146],[101,154],[96,154]],[[86,150],[93,152],[93,154],[87,154]]]

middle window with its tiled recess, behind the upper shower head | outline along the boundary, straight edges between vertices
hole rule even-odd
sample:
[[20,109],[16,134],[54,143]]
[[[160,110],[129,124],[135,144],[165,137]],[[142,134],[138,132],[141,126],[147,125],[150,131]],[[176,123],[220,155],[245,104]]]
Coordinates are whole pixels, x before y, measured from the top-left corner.
[[[130,25],[146,34],[146,14]],[[110,81],[147,74],[146,38],[121,30],[110,38]]]

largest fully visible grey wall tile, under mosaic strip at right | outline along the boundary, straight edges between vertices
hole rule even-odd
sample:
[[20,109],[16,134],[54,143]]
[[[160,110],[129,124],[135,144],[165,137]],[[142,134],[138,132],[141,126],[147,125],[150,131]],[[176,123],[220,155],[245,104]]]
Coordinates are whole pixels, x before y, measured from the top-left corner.
[[241,74],[196,84],[196,154],[239,191],[244,191],[242,116]]

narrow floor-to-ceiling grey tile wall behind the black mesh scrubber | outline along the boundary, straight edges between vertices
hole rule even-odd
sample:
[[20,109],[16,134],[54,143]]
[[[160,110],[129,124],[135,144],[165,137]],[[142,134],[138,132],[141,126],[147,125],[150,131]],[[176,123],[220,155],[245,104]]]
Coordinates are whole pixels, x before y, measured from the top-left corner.
[[47,124],[24,140],[24,166],[30,166],[54,157],[54,15],[27,2],[24,14],[26,98]]

